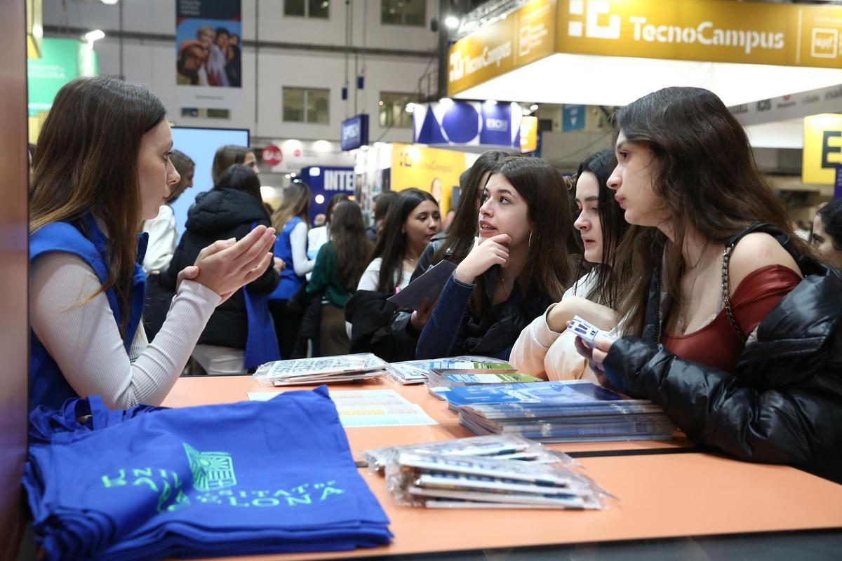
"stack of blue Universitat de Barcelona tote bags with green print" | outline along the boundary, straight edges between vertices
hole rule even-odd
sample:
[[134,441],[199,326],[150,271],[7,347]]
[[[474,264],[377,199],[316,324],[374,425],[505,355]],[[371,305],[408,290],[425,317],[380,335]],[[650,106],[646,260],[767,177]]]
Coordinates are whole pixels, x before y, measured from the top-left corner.
[[324,386],[184,409],[109,411],[91,397],[30,421],[24,487],[48,559],[328,551],[392,537]]

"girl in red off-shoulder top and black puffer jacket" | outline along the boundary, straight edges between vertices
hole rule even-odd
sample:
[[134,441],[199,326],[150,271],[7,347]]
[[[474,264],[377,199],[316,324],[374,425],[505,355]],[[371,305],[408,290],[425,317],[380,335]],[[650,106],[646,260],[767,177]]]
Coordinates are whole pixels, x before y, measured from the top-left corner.
[[580,352],[701,445],[842,481],[839,272],[793,236],[716,95],[668,87],[617,124],[608,185],[647,226],[618,310],[632,336]]

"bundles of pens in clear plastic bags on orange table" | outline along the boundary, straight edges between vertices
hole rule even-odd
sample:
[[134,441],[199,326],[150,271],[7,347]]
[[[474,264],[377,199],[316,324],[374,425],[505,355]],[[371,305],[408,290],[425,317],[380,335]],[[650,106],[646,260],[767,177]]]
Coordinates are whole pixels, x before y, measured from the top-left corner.
[[473,437],[363,453],[400,505],[427,508],[605,508],[613,498],[567,454],[520,437]]

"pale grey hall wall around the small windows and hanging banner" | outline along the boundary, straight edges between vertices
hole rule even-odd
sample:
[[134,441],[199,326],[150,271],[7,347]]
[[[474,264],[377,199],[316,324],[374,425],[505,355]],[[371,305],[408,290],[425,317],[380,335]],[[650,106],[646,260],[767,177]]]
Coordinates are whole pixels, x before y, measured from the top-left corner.
[[[121,0],[123,29],[127,32],[151,34],[175,33],[174,0]],[[413,28],[380,24],[378,0],[353,0],[354,41],[362,46],[363,4],[368,3],[365,46],[395,50],[428,51],[431,56],[437,45],[437,35],[428,27]],[[438,3],[427,0],[427,19],[436,15]],[[242,0],[242,35],[254,39],[255,0]],[[92,0],[67,0],[67,12],[61,0],[44,0],[44,23],[48,26],[79,27],[85,29],[119,29],[119,8]],[[344,46],[344,2],[333,0],[328,20],[285,17],[283,0],[263,0],[259,3],[259,40],[309,45]],[[99,73],[120,74],[120,44],[109,37],[99,40],[95,49],[99,55]],[[356,113],[367,112],[370,117],[370,140],[411,142],[411,129],[386,132],[378,124],[378,101],[381,92],[412,93],[418,78],[425,71],[435,72],[437,62],[418,56],[366,56],[365,89],[355,90],[354,55],[349,57],[349,100],[341,98],[344,86],[344,53],[318,50],[280,50],[264,48],[259,51],[258,73],[255,81],[253,47],[242,52],[242,105],[231,110],[230,119],[197,119],[181,116],[181,105],[175,92],[175,49],[173,43],[162,40],[123,41],[123,73],[131,82],[152,87],[169,109],[168,119],[185,126],[245,128],[253,137],[296,138],[300,140],[338,140],[340,123],[354,115],[354,93],[357,94]],[[359,59],[360,66],[362,59]],[[257,86],[255,87],[255,82]],[[329,124],[285,123],[282,119],[282,87],[322,87],[330,89]],[[435,86],[434,86],[435,87]],[[255,115],[255,88],[258,92],[258,113]],[[385,135],[384,135],[385,133]]]

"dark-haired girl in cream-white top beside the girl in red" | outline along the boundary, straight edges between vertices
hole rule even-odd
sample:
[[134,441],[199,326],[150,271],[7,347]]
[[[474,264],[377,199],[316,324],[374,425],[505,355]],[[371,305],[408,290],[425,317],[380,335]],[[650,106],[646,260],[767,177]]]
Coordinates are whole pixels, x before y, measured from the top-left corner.
[[628,267],[626,260],[617,259],[616,247],[629,225],[606,183],[614,167],[611,149],[591,154],[578,167],[575,197],[579,213],[573,226],[581,235],[585,261],[594,267],[568,288],[560,302],[520,332],[509,357],[520,372],[552,380],[597,381],[587,361],[576,352],[576,336],[566,328],[578,315],[612,334],[617,331],[615,310]]

